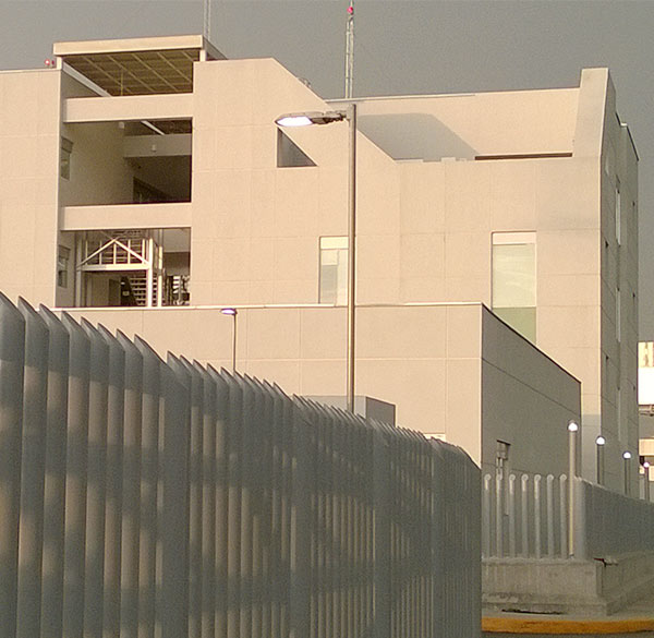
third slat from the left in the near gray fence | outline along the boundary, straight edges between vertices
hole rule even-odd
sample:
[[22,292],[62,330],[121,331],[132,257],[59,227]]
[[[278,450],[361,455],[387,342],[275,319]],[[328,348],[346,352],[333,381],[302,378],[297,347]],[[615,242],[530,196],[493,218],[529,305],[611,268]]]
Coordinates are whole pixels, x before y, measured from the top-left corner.
[[70,335],[46,306],[39,306],[39,316],[50,333],[40,635],[61,638]]

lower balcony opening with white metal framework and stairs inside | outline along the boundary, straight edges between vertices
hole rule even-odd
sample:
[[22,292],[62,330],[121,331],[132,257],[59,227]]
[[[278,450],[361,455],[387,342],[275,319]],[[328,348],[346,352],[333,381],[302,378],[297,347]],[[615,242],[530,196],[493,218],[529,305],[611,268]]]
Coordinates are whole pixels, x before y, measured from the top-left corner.
[[74,236],[76,308],[189,305],[190,229]]

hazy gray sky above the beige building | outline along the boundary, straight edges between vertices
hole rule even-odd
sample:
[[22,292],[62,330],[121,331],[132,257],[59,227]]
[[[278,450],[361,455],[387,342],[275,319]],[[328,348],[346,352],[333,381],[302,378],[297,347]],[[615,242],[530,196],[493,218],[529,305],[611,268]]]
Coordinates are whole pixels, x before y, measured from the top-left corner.
[[[214,0],[211,39],[340,97],[347,3]],[[654,0],[355,0],[355,95],[578,86],[582,68],[610,69],[641,158],[641,339],[654,339]],[[43,67],[58,40],[202,28],[196,0],[0,0],[0,69]]]

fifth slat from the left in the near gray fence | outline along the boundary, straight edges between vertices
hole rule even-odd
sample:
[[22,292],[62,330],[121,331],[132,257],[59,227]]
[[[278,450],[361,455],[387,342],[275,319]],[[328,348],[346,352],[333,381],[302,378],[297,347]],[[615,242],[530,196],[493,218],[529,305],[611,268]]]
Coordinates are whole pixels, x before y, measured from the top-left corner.
[[98,330],[86,320],[82,320],[82,328],[90,342],[84,636],[100,638],[102,636],[105,586],[109,346]]

